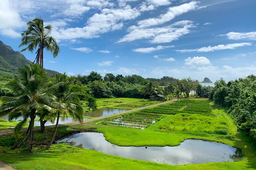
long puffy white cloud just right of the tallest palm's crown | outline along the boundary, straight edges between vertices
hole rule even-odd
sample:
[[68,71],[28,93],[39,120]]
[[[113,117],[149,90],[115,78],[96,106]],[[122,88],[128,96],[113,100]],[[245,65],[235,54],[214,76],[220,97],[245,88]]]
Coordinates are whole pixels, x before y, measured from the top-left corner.
[[123,27],[122,21],[135,19],[140,15],[136,8],[129,5],[120,9],[103,9],[101,13],[95,13],[86,23],[85,27],[58,28],[52,31],[52,35],[59,40],[68,40],[75,38],[96,38],[113,30],[119,30]]

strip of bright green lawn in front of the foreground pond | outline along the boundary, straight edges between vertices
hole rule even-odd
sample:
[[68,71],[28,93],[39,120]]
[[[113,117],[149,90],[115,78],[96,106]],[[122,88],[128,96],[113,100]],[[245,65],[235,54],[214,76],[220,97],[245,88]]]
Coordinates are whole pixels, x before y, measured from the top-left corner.
[[[5,148],[0,148],[0,150]],[[79,149],[67,144],[55,144],[48,151],[39,150],[33,154],[21,151],[7,153],[0,152],[0,157],[5,162],[20,170],[205,170],[205,169],[254,169],[254,164],[247,161],[210,163],[199,165],[171,166],[140,160],[125,159],[103,154],[93,150]]]

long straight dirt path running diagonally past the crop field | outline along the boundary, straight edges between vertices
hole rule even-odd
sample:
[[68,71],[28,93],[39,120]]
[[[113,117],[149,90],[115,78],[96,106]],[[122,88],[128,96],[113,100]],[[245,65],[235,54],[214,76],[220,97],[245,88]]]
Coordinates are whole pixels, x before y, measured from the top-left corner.
[[[83,123],[88,123],[88,122],[91,122],[93,120],[105,119],[105,118],[113,117],[113,116],[116,116],[116,115],[126,114],[126,113],[129,113],[129,112],[138,111],[138,110],[146,109],[146,108],[149,108],[149,107],[159,106],[159,105],[162,105],[162,104],[171,103],[173,101],[177,101],[177,99],[172,99],[170,101],[166,101],[166,102],[163,102],[163,103],[153,104],[153,105],[150,105],[150,106],[140,107],[140,108],[137,108],[137,109],[131,109],[129,111],[119,112],[119,113],[106,115],[106,116],[102,116],[102,117],[87,119],[87,120],[84,120]],[[80,123],[79,122],[65,123],[65,124],[58,125],[58,127],[62,127],[62,126],[66,126],[66,125],[78,125],[78,124],[80,124]],[[55,127],[55,125],[46,126],[46,128],[51,128],[51,127]],[[34,130],[40,130],[40,127],[35,127]],[[21,132],[26,132],[26,131],[27,131],[27,128],[21,129]],[[8,135],[8,134],[11,134],[11,133],[13,133],[13,129],[0,130],[0,135]]]

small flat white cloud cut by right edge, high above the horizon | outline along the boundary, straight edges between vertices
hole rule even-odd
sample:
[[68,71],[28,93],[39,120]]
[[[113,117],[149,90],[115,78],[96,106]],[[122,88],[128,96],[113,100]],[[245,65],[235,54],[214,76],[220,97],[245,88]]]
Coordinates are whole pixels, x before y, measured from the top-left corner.
[[229,32],[225,35],[230,40],[256,40],[256,32]]

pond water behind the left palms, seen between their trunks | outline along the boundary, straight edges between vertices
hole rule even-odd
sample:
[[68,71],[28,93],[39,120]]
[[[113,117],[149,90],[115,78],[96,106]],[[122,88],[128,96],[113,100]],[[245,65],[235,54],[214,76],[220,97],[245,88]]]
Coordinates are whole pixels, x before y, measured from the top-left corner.
[[[36,118],[38,118],[38,116],[36,116]],[[0,119],[8,120],[8,115],[2,116],[2,117],[0,117]],[[15,121],[18,122],[18,120],[20,120],[20,119],[23,119],[23,117],[18,117],[18,119],[16,119]],[[84,118],[83,120],[86,120],[86,118]],[[54,123],[47,121],[45,123],[45,126],[56,125],[56,122],[57,122],[57,118],[55,119]],[[71,122],[78,122],[78,120],[74,120],[73,117],[60,117],[60,119],[59,119],[59,124],[71,123]],[[34,125],[40,126],[40,121],[39,120],[35,121]]]

